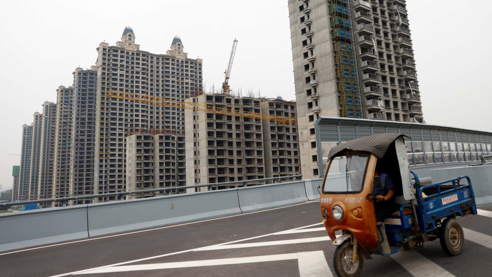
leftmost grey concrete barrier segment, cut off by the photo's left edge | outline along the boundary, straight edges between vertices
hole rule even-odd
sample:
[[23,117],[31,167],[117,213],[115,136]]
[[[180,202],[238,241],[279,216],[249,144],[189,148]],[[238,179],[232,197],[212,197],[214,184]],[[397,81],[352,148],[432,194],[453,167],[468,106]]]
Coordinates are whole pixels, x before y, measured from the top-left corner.
[[87,237],[87,205],[0,214],[0,252]]

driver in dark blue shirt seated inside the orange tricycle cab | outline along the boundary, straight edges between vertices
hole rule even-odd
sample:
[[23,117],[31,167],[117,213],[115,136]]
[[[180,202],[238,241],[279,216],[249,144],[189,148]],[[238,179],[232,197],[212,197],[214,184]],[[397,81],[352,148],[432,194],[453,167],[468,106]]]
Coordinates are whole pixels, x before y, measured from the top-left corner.
[[382,186],[372,188],[372,196],[375,198],[374,209],[376,211],[376,221],[383,222],[395,210],[395,186],[390,176],[386,173],[379,173],[377,170],[374,176],[381,176]]

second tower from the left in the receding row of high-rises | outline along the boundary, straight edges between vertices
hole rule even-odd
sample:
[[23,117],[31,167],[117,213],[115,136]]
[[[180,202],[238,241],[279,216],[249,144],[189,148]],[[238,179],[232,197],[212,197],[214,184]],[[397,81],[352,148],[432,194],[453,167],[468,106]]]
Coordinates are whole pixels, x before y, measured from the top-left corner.
[[29,200],[38,199],[39,165],[41,162],[41,123],[43,115],[35,112],[32,119],[31,170],[29,180]]

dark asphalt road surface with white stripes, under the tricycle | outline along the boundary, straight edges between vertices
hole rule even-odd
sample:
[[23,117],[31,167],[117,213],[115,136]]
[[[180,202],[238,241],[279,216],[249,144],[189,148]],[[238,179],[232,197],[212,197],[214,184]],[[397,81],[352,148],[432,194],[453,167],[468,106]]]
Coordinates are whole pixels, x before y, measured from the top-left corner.
[[[319,201],[0,253],[0,276],[334,276]],[[362,276],[492,276],[492,206],[459,218],[461,255],[439,240],[372,255]]]

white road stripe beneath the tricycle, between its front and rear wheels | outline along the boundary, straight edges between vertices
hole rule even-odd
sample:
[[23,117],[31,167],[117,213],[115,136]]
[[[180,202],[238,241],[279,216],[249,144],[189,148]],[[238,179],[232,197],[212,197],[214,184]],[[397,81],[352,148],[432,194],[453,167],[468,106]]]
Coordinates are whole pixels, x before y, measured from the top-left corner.
[[455,277],[415,250],[400,251],[391,255],[403,268],[416,277]]

